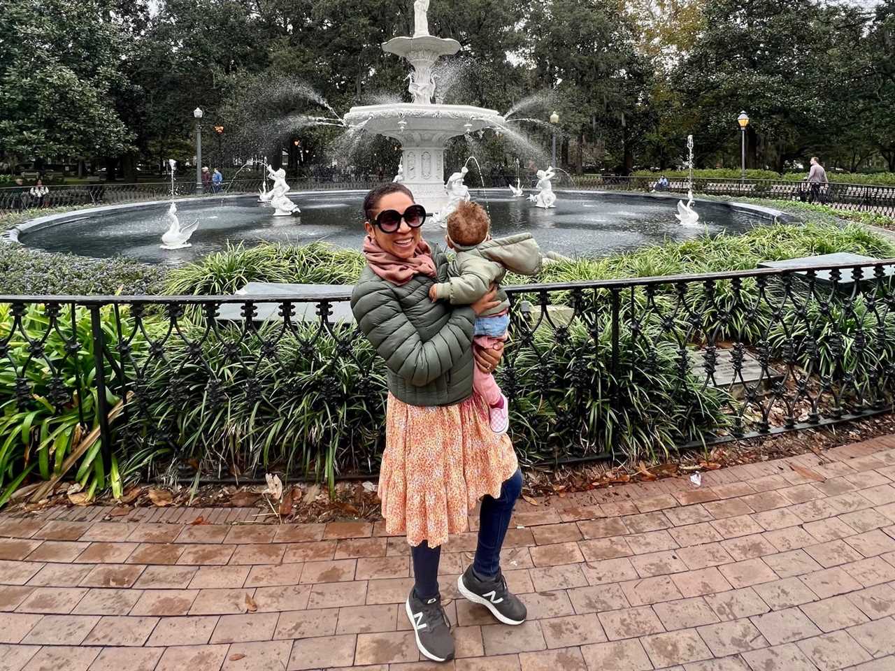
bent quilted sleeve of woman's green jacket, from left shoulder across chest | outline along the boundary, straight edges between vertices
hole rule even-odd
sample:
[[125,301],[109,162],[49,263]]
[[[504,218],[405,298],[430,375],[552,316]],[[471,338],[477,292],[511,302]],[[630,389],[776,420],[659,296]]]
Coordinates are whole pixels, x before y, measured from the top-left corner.
[[[421,300],[436,308],[425,293]],[[351,308],[362,333],[388,368],[413,386],[428,385],[447,373],[473,344],[475,313],[471,308],[454,308],[444,326],[423,340],[402,310],[395,288],[384,282],[356,285]]]

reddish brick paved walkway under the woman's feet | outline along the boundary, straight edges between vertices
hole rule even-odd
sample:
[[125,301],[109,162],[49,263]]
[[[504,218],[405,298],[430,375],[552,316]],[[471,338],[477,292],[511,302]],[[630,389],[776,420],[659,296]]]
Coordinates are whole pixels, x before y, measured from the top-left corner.
[[[895,669],[895,437],[787,461],[520,503],[494,624],[456,597],[456,671]],[[0,517],[0,669],[423,667],[381,524],[233,524],[250,509]],[[202,516],[208,524],[190,525]],[[441,666],[440,668],[445,668]]]

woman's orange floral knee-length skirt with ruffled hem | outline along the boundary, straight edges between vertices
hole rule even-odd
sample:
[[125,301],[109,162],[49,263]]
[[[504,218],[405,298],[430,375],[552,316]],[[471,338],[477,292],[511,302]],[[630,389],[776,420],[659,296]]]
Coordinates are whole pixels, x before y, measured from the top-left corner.
[[469,510],[485,494],[499,497],[518,466],[509,437],[491,430],[480,396],[419,407],[388,395],[379,498],[389,534],[438,547],[448,533],[466,531]]

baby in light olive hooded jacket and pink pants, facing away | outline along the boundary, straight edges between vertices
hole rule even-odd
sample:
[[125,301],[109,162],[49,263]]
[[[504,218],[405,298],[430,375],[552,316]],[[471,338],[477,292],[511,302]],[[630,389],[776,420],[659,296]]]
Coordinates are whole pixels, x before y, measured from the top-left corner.
[[[447,282],[432,285],[432,301],[444,299],[452,305],[469,305],[490,291],[512,270],[520,275],[537,275],[541,266],[558,255],[541,254],[531,234],[492,239],[490,218],[482,206],[460,202],[447,217],[447,245],[456,251],[456,259],[447,266]],[[500,304],[475,319],[474,346],[493,348],[507,339],[509,301],[498,287]],[[473,392],[482,396],[490,407],[490,425],[495,433],[506,433],[509,427],[507,397],[500,391],[494,376],[473,366]]]

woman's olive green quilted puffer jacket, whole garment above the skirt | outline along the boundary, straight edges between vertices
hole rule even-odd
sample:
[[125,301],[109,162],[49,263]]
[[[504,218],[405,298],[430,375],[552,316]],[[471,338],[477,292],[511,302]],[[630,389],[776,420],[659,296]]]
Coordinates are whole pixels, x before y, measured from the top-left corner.
[[[439,280],[447,261],[432,251]],[[473,394],[473,324],[469,306],[431,302],[435,280],[413,276],[396,286],[364,268],[351,295],[351,310],[388,367],[388,391],[410,405],[453,405]]]

